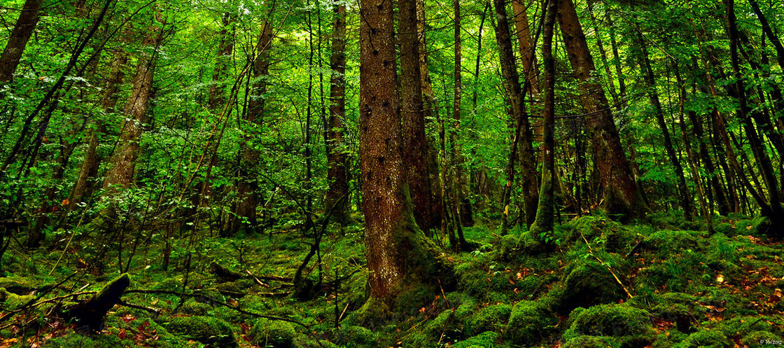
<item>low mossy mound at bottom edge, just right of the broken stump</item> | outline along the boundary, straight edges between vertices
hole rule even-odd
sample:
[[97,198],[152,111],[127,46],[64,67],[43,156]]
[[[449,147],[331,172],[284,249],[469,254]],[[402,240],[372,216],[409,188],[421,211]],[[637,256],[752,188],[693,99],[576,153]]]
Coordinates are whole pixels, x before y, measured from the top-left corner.
[[190,339],[218,348],[237,346],[237,340],[234,339],[231,326],[226,321],[213,317],[173,317],[163,326],[172,333],[185,335]]

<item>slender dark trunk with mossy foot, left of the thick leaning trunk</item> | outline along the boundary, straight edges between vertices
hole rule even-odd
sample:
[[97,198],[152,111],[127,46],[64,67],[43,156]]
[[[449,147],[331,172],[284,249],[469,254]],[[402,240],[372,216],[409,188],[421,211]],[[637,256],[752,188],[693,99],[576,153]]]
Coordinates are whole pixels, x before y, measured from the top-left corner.
[[544,61],[544,112],[542,143],[542,184],[539,187],[539,208],[531,227],[534,237],[542,234],[552,236],[554,228],[554,179],[555,179],[555,60],[553,58],[553,34],[558,0],[548,0],[543,28],[542,60]]

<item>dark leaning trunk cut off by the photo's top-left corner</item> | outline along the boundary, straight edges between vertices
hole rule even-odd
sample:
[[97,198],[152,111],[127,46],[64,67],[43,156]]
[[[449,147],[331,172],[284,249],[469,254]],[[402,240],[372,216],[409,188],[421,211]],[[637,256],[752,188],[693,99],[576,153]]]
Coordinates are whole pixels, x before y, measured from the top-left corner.
[[19,66],[27,41],[30,40],[38,20],[41,18],[42,0],[27,0],[16,20],[16,25],[11,31],[11,36],[5,44],[2,56],[0,56],[0,82],[13,81],[13,74]]

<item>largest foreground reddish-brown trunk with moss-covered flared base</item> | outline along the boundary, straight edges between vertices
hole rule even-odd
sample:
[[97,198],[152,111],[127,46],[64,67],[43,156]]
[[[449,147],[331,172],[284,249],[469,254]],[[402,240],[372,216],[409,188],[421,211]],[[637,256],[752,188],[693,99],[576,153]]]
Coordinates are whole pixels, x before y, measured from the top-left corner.
[[[401,155],[393,3],[360,3],[360,160],[365,255],[370,299],[365,317],[386,317],[417,306],[422,288],[435,290],[437,277],[451,277],[416,226]],[[414,149],[406,149],[414,150]],[[426,292],[424,292],[426,293]]]

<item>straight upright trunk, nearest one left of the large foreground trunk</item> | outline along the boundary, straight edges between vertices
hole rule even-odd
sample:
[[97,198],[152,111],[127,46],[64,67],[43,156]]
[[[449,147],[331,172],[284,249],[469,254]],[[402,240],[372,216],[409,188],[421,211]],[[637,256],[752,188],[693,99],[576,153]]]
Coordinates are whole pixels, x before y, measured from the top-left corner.
[[327,183],[324,210],[344,224],[349,216],[348,157],[343,149],[343,120],[346,118],[346,6],[335,5],[332,22],[332,56],[329,68],[329,119],[327,130]]

